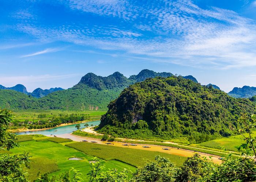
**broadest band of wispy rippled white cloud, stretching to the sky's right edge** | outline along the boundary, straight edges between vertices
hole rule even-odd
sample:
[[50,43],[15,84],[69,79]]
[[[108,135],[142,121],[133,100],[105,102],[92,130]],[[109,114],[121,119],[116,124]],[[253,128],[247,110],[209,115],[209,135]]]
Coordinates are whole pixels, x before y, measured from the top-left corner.
[[[234,11],[203,9],[192,0],[69,0],[73,11],[124,21],[61,27],[18,24],[41,41],[67,41],[103,50],[143,55],[148,60],[193,67],[231,69],[256,66],[256,22]],[[136,57],[136,56],[134,56]]]

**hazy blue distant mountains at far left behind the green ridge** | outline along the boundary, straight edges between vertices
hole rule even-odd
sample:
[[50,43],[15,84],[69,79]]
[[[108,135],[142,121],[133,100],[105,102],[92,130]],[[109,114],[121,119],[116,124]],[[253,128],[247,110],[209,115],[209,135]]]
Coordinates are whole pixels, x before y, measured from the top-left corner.
[[4,86],[0,85],[0,89],[1,90],[15,90],[18,92],[22,92],[23,94],[26,94],[26,95],[31,95],[35,98],[41,98],[41,97],[44,97],[52,92],[64,90],[63,88],[60,88],[60,87],[59,88],[57,88],[57,87],[50,88],[50,89],[45,89],[45,90],[43,90],[42,88],[37,88],[32,93],[30,93],[27,91],[27,88],[22,84],[17,84],[14,87],[4,87]]

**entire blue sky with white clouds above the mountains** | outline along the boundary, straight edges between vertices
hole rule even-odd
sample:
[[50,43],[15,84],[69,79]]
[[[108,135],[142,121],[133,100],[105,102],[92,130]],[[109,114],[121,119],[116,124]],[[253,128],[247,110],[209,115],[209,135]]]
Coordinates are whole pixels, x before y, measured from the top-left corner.
[[1,0],[0,84],[69,88],[88,72],[256,86],[254,0]]

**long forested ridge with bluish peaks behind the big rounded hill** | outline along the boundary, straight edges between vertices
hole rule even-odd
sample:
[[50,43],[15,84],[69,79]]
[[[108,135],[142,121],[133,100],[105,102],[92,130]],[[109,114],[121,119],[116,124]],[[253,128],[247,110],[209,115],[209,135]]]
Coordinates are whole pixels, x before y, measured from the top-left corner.
[[[74,87],[53,92],[39,99],[21,93],[14,96],[13,92],[5,90],[1,92],[0,108],[9,108],[11,110],[107,110],[109,102],[116,99],[124,88],[127,88],[133,83],[143,81],[146,78],[154,78],[155,76],[167,77],[172,76],[172,74],[142,70],[138,75],[126,78],[119,72],[115,72],[106,77],[88,73],[83,76],[80,82]],[[40,89],[36,89],[34,92],[34,94],[38,95],[37,97],[44,95],[45,93],[46,90],[42,91]]]

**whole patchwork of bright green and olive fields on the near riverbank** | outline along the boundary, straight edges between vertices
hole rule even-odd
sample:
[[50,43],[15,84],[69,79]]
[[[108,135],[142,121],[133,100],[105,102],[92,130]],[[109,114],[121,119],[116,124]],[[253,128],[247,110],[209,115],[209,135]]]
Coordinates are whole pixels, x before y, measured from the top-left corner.
[[[34,181],[45,173],[60,175],[72,167],[82,173],[83,181],[88,181],[89,162],[94,161],[94,157],[103,162],[104,170],[115,168],[121,171],[125,168],[131,173],[135,172],[135,166],[143,166],[148,159],[154,160],[156,155],[167,157],[178,166],[186,160],[186,157],[161,152],[74,142],[69,139],[51,138],[44,135],[20,135],[18,141],[20,147],[11,149],[10,152],[15,154],[27,151],[30,153],[31,162],[28,170],[30,181]],[[68,160],[73,157],[82,160]]]

